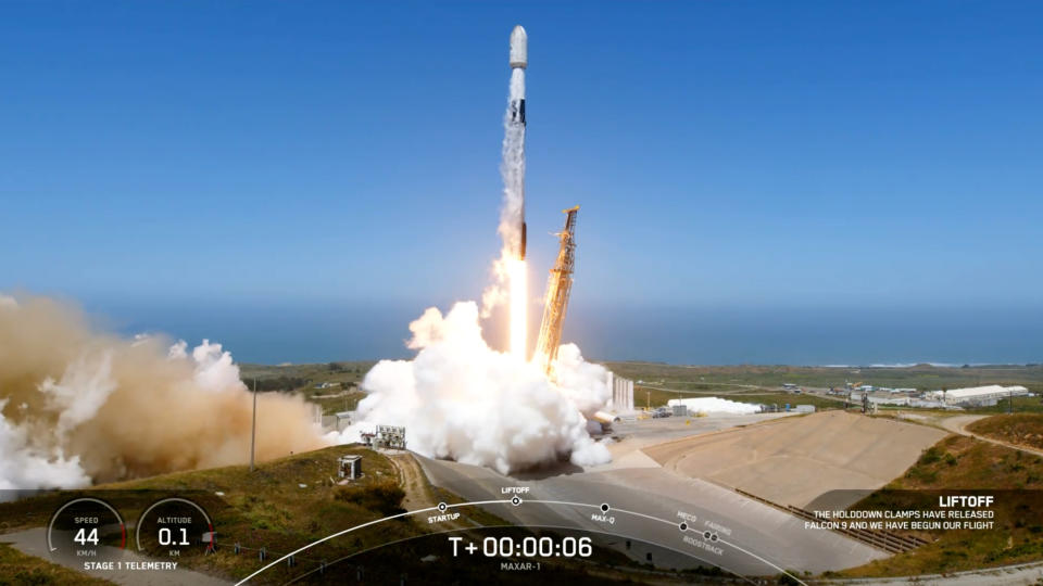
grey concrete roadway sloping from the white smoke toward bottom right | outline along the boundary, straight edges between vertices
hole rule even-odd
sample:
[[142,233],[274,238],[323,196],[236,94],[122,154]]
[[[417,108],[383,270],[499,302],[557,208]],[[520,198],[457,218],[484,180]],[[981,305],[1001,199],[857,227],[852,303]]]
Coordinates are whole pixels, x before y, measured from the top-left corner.
[[[553,524],[611,532],[678,551],[667,559],[657,557],[653,560],[663,568],[691,568],[700,564],[696,560],[702,560],[703,564],[718,565],[743,575],[775,575],[780,568],[818,573],[887,557],[882,551],[843,535],[807,530],[795,517],[716,484],[674,474],[651,459],[634,454],[649,438],[662,442],[690,435],[699,428],[719,429],[729,423],[747,424],[757,419],[756,416],[699,418],[688,425],[683,421],[649,420],[636,424],[637,431],[630,430],[629,437],[626,437],[627,428],[631,426],[619,426],[617,433],[625,437],[613,446],[617,458],[613,464],[587,470],[565,467],[542,476],[504,476],[485,468],[426,458],[420,458],[420,464],[433,484],[467,500],[510,498],[504,488],[519,486],[529,491],[523,495],[529,500],[606,502],[612,508],[669,520],[667,524],[610,510],[611,514],[606,517],[612,521],[607,521],[596,519],[596,510],[568,505],[523,502],[519,507],[486,507],[493,514],[517,524]],[[761,416],[761,419],[768,418]],[[629,453],[628,446],[631,447]],[[682,520],[687,520],[690,527],[683,533],[676,524]],[[709,544],[712,549],[703,547],[706,545],[702,542],[704,531],[717,533],[720,543]],[[627,553],[644,561],[644,551],[637,547]],[[663,556],[663,550],[655,555]]]

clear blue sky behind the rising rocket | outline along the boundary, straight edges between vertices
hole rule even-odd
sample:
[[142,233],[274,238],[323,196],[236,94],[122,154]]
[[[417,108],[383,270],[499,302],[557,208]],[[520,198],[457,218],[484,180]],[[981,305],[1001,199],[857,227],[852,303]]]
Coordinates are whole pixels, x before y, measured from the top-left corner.
[[[1043,356],[1041,22],[1033,2],[0,3],[0,290],[255,359],[293,353],[229,311],[389,324],[477,298],[520,23],[533,292],[580,204],[580,343],[649,358],[603,342],[642,313],[923,308],[1006,311],[1034,326],[1004,356]],[[363,329],[309,352],[407,334]]]

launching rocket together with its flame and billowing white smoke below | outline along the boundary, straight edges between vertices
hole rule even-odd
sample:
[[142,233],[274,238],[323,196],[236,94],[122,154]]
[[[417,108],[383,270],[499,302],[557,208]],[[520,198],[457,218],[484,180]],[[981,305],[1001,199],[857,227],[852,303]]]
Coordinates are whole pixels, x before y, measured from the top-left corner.
[[[377,424],[403,425],[411,449],[427,457],[485,466],[502,474],[558,461],[595,466],[611,461],[605,443],[590,436],[612,397],[611,374],[562,345],[555,378],[528,359],[525,222],[525,72],[528,39],[511,31],[511,92],[503,115],[503,241],[493,263],[495,281],[482,307],[461,302],[447,314],[428,308],[410,324],[413,360],[381,360],[363,379],[366,398],[341,441]],[[510,351],[490,347],[479,318],[510,304]]]

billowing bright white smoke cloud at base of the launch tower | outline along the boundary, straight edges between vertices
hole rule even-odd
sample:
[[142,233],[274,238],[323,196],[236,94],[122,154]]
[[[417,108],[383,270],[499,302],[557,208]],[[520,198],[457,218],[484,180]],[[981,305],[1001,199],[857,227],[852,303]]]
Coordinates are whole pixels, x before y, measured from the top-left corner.
[[360,421],[340,441],[377,424],[404,425],[410,449],[504,474],[566,457],[577,466],[607,462],[583,415],[605,406],[608,372],[567,345],[551,382],[533,364],[490,348],[478,318],[478,306],[462,302],[411,323],[416,357],[382,360],[366,374]]

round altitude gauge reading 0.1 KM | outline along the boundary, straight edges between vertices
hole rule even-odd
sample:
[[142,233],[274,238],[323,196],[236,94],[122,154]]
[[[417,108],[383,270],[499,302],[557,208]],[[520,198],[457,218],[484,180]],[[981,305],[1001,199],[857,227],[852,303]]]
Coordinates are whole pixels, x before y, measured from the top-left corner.
[[214,525],[202,507],[187,498],[164,498],[141,513],[135,530],[138,551],[181,559],[214,551]]

